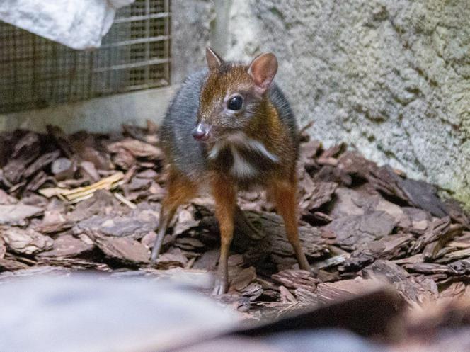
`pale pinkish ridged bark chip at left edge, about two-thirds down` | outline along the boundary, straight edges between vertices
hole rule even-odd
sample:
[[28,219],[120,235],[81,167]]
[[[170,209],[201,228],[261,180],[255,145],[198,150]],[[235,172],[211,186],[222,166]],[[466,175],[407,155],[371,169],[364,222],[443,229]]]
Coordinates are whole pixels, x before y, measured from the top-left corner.
[[52,248],[52,238],[44,236],[33,229],[18,227],[0,227],[0,234],[8,249],[19,254],[35,254]]

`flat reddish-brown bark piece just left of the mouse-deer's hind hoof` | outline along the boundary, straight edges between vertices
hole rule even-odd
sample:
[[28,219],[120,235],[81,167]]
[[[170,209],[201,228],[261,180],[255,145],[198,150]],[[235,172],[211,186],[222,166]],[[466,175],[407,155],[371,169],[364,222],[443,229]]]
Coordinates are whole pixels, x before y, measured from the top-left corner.
[[130,237],[107,237],[93,234],[96,245],[103,253],[123,263],[149,263],[149,249]]

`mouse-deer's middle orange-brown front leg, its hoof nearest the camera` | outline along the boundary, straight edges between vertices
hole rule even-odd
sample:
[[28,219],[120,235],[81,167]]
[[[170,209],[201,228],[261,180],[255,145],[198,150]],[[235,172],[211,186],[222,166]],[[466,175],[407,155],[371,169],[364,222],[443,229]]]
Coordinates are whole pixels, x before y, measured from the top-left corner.
[[215,216],[220,229],[220,257],[212,294],[226,293],[229,286],[228,260],[231,240],[234,237],[234,213],[236,189],[234,183],[224,176],[215,176],[212,194],[215,200]]

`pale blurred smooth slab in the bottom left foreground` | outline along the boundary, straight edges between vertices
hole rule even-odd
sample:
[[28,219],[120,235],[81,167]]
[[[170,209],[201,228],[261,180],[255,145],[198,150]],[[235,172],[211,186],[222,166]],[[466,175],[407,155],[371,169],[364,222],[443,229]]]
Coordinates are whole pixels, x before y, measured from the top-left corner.
[[103,275],[36,276],[0,285],[1,352],[137,352],[210,338],[236,317],[177,283]]

